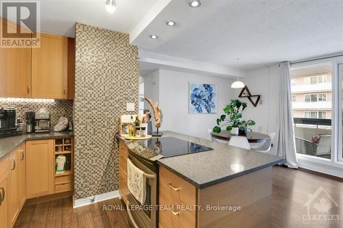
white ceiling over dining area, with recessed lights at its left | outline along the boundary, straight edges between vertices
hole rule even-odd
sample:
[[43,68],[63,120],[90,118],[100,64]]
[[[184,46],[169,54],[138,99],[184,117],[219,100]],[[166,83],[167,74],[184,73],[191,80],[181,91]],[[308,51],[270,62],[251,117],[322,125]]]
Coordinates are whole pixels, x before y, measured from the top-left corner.
[[343,51],[342,9],[342,0],[202,0],[200,8],[172,0],[132,43],[228,67],[239,57],[248,70]]

